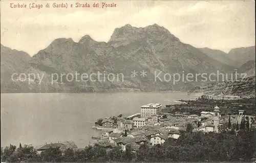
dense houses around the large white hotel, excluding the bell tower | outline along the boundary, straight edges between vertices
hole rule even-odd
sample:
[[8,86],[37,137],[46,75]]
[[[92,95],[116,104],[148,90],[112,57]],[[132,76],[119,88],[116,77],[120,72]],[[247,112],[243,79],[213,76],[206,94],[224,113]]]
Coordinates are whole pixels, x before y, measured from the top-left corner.
[[163,144],[170,137],[179,138],[179,127],[160,125],[167,118],[166,115],[160,115],[161,106],[158,103],[143,105],[140,117],[132,120],[118,118],[116,124],[109,119],[103,120],[102,126],[113,130],[106,131],[104,135],[107,138],[99,140],[96,145],[104,148],[120,146],[123,150],[130,146],[136,151],[143,143],[156,145]]

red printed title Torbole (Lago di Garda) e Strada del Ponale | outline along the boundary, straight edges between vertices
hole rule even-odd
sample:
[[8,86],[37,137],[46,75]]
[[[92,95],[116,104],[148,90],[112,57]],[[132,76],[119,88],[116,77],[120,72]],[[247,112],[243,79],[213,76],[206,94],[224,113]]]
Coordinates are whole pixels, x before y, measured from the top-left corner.
[[20,3],[10,3],[10,8],[28,8],[28,9],[41,9],[41,8],[115,8],[117,5],[115,3],[75,3],[68,5],[67,3],[46,3],[45,5],[30,3],[20,4]]

